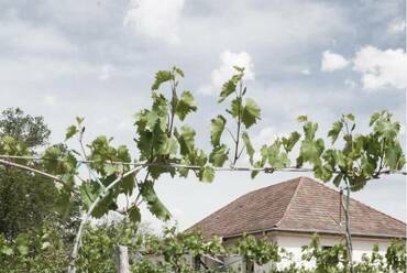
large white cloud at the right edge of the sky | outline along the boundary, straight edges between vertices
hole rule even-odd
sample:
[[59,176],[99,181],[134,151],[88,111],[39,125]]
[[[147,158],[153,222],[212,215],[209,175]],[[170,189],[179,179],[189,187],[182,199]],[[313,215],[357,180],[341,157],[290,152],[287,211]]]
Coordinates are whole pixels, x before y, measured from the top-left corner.
[[367,45],[356,53],[353,63],[353,69],[362,73],[365,89],[406,88],[407,55],[402,48],[381,51]]

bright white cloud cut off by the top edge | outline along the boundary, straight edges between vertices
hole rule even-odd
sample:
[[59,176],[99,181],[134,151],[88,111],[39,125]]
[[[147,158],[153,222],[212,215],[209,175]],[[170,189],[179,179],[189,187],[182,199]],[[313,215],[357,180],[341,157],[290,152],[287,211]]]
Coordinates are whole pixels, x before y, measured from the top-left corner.
[[179,43],[178,21],[184,0],[131,0],[123,25],[143,35]]

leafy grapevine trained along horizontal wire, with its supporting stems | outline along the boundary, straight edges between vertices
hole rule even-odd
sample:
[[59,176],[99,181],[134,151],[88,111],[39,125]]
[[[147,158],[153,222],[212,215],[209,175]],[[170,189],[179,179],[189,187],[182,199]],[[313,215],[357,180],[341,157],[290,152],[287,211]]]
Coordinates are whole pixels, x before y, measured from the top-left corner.
[[[179,78],[184,72],[177,67],[160,70],[152,86],[152,107],[143,109],[135,116],[135,143],[140,156],[132,160],[129,149],[124,145],[113,146],[112,139],[98,136],[88,145],[84,145],[84,119],[77,118],[76,123],[66,132],[66,143],[77,136],[80,152],[65,145],[53,145],[41,155],[11,136],[0,140],[0,164],[44,175],[61,184],[61,196],[68,205],[74,193],[79,193],[86,206],[75,244],[72,252],[69,273],[76,271],[81,236],[90,217],[100,218],[111,210],[118,210],[119,195],[135,200],[122,214],[135,222],[140,222],[141,203],[146,203],[152,214],[167,220],[170,212],[157,197],[154,185],[161,175],[187,177],[189,172],[199,181],[211,182],[217,172],[250,172],[254,178],[260,172],[311,172],[323,182],[332,181],[336,186],[345,190],[343,210],[346,227],[346,249],[350,253],[348,266],[353,272],[352,238],[349,218],[349,204],[352,190],[362,189],[370,179],[381,175],[402,174],[405,156],[398,141],[400,124],[393,121],[388,111],[374,113],[370,120],[367,133],[355,133],[356,122],[353,114],[343,114],[336,121],[327,136],[317,138],[318,123],[300,116],[302,132],[297,131],[288,136],[276,139],[264,144],[260,150],[260,159],[255,160],[249,129],[261,119],[261,109],[256,102],[248,98],[244,86],[244,68],[235,67],[237,74],[224,83],[219,103],[227,99],[230,106],[227,117],[218,114],[210,121],[209,155],[195,144],[196,131],[185,123],[186,117],[197,111],[197,102],[189,90],[178,92]],[[168,84],[170,95],[161,92],[162,85]],[[234,97],[233,97],[234,96]],[[235,133],[232,133],[232,128]],[[229,148],[223,132],[228,132],[233,145]],[[342,135],[342,142],[337,143]],[[293,165],[289,154],[299,143],[296,164]],[[342,146],[340,146],[342,144]],[[340,148],[338,148],[338,145]],[[328,148],[327,148],[328,146]],[[249,166],[239,166],[238,161],[245,151]],[[229,161],[229,166],[227,162]],[[85,165],[88,170],[87,179],[80,177],[78,168]],[[134,195],[134,190],[139,193]]]

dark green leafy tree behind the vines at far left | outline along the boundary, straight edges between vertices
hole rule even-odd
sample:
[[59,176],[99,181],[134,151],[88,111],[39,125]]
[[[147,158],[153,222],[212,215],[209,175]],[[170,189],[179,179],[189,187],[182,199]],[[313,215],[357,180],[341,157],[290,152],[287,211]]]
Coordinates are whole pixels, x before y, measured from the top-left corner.
[[[11,149],[14,145],[21,151],[30,150],[33,154],[36,149],[48,143],[50,133],[42,117],[24,114],[20,108],[2,112],[0,139],[4,146]],[[36,166],[40,167],[38,164]],[[0,233],[12,239],[20,232],[41,227],[45,220],[58,220],[55,210],[58,197],[58,189],[52,179],[16,168],[1,167]],[[72,225],[69,221],[61,222]]]

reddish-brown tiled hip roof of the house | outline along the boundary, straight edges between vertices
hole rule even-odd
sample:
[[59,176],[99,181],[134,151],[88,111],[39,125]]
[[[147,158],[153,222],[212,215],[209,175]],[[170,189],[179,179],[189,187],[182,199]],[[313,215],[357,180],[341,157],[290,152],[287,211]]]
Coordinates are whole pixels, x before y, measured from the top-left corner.
[[[405,222],[352,198],[350,217],[354,236],[406,237]],[[301,176],[245,194],[187,231],[200,231],[206,238],[274,230],[343,233],[343,223],[339,192]]]

